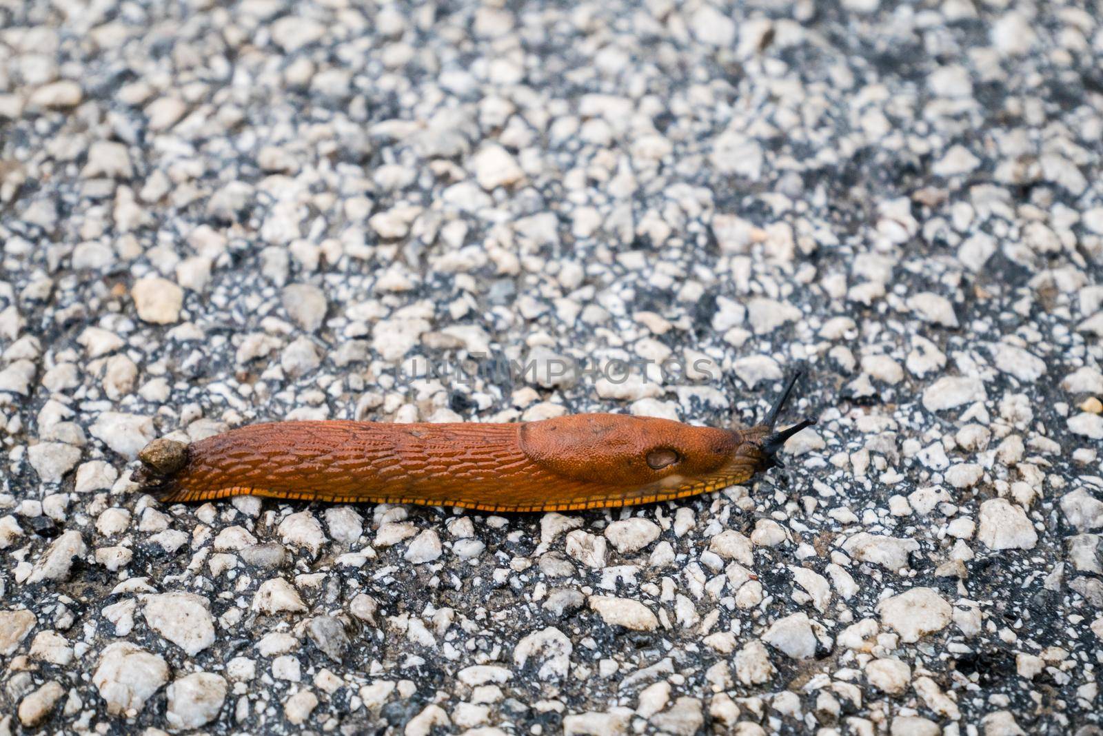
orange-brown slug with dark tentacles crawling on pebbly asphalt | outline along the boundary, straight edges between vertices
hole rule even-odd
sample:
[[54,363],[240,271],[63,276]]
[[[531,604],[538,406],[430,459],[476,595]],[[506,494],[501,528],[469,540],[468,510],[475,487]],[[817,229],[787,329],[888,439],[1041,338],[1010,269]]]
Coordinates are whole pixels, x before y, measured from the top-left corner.
[[190,445],[159,439],[136,478],[163,501],[250,494],[333,502],[458,506],[480,511],[568,511],[650,504],[746,483],[815,420],[747,430],[625,414],[537,422],[253,424]]

